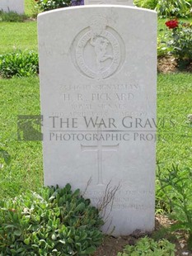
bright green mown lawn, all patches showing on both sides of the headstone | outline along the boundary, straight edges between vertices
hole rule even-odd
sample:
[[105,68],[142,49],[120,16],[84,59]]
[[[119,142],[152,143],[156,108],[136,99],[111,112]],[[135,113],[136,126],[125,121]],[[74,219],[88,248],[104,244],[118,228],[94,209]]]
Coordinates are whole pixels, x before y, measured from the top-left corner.
[[[159,28],[164,23],[165,20],[160,20]],[[36,21],[0,22],[0,54],[15,49],[37,51],[36,25]],[[40,187],[43,164],[41,143],[18,141],[16,126],[17,115],[40,114],[39,78],[0,79],[0,92],[0,142],[12,155],[11,165],[0,170],[1,198]],[[192,127],[186,122],[192,114],[191,95],[191,73],[158,75],[157,120],[161,123],[157,160],[165,168],[172,163],[192,166]]]

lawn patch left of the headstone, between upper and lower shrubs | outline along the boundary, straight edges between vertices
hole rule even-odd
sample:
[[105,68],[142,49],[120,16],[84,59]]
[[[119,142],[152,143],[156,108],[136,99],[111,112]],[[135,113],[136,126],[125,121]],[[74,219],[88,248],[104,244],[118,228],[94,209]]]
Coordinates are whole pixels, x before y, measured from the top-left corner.
[[0,169],[1,197],[14,197],[26,188],[35,190],[43,184],[40,141],[17,140],[17,115],[39,115],[39,79],[0,80],[0,142],[12,156],[9,166]]

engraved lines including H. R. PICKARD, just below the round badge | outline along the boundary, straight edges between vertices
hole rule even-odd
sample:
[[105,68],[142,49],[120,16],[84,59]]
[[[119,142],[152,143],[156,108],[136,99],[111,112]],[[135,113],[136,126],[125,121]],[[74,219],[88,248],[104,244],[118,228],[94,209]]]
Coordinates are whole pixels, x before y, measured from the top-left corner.
[[[142,92],[138,81],[131,80],[129,83],[69,83],[59,85],[62,101],[70,104],[69,116],[107,116],[114,111],[119,116],[141,116],[139,111],[127,111],[128,104],[131,106]],[[89,93],[85,93],[89,92]]]

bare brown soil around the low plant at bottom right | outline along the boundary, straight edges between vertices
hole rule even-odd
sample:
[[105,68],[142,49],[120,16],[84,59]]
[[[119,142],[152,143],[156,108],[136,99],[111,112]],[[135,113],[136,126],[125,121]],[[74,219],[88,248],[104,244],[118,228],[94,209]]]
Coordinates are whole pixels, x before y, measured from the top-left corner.
[[171,243],[176,244],[176,256],[192,256],[192,252],[187,249],[187,236],[183,231],[166,232],[172,223],[173,221],[169,220],[166,216],[158,215],[156,216],[155,230],[152,233],[140,234],[139,231],[136,231],[133,235],[128,236],[105,236],[103,244],[101,244],[93,256],[117,256],[118,252],[123,251],[125,245],[134,245],[138,239],[145,235],[152,238],[166,238]]

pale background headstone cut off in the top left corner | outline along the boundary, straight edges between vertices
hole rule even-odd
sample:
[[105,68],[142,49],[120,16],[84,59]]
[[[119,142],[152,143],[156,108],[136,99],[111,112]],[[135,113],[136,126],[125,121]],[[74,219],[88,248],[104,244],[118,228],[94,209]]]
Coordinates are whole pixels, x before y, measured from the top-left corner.
[[24,0],[0,0],[0,10],[22,14],[24,13]]

